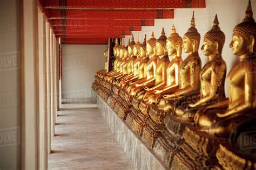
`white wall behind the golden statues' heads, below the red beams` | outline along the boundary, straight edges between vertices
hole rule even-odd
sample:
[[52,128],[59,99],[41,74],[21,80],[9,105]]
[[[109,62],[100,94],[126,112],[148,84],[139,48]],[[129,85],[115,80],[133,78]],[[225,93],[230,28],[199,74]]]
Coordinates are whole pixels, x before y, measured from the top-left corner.
[[[254,13],[254,18],[256,18],[256,2],[251,1],[252,9]],[[234,56],[231,48],[229,47],[234,26],[242,22],[244,18],[244,13],[247,8],[247,0],[206,0],[205,9],[175,9],[174,19],[155,19],[154,26],[144,26],[141,32],[133,31],[134,36],[137,37],[139,33],[140,42],[143,41],[145,33],[147,34],[147,39],[150,38],[151,32],[154,31],[155,37],[158,38],[161,33],[161,28],[164,27],[166,37],[171,34],[172,24],[176,26],[176,31],[181,37],[187,32],[190,27],[190,20],[192,17],[192,12],[194,11],[194,16],[196,20],[196,28],[201,34],[201,42],[199,46],[199,55],[204,65],[206,62],[206,56],[201,52],[200,48],[203,44],[203,37],[207,31],[212,27],[212,23],[215,17],[215,13],[218,15],[220,29],[226,35],[226,41],[223,49],[223,59],[227,63],[227,73],[230,71],[234,62],[237,61],[238,57]],[[125,43],[128,42],[130,36],[125,36]],[[187,54],[183,52],[183,59],[186,58]],[[225,93],[228,96],[228,86],[225,83]]]

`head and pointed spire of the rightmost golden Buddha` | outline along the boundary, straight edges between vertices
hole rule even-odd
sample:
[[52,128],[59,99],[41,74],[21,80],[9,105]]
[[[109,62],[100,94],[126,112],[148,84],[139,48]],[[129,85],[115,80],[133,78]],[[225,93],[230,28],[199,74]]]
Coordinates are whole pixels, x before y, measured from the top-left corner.
[[230,44],[233,54],[238,56],[255,54],[255,36],[256,24],[253,18],[251,1],[249,1],[244,20],[234,27]]

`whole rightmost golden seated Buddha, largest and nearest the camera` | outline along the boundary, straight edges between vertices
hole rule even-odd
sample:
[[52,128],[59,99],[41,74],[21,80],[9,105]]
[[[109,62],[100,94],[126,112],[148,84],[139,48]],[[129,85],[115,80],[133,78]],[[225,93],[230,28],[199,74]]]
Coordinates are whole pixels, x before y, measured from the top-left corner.
[[[227,76],[229,98],[197,111],[194,121],[202,131],[216,137],[228,137],[234,127],[250,119],[256,110],[255,52],[256,23],[251,2],[242,23],[234,27],[230,44],[239,61]],[[255,114],[254,114],[255,116]]]

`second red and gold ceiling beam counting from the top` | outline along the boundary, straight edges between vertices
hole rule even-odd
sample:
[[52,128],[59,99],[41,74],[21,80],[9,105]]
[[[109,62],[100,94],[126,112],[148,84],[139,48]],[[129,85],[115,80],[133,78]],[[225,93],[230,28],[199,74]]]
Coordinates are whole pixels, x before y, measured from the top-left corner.
[[157,19],[173,18],[173,10],[52,10],[49,19]]

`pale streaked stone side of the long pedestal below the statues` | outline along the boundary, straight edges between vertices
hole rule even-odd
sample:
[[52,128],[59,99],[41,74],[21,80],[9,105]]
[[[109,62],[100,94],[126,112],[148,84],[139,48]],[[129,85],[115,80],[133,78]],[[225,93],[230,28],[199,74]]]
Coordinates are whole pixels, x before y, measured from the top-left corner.
[[145,146],[143,141],[133,133],[101,97],[98,97],[97,107],[136,169],[167,169],[153,151]]

